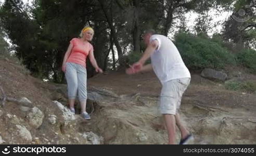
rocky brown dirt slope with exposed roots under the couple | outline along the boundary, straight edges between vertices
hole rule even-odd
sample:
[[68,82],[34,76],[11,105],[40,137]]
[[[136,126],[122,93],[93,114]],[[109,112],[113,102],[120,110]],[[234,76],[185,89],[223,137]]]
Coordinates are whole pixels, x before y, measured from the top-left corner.
[[[153,73],[118,71],[88,79],[89,121],[81,118],[78,104],[75,115],[67,109],[66,85],[35,79],[6,58],[0,59],[0,86],[1,101],[7,97],[0,108],[0,144],[167,143],[158,111],[161,85]],[[254,93],[226,90],[223,82],[193,73],[180,110],[195,136],[191,143],[256,144],[255,101]]]

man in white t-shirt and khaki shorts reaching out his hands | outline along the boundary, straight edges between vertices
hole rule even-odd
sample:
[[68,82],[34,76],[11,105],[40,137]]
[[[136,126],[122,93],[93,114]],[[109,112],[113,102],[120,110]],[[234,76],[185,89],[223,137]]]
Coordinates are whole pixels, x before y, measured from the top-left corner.
[[[187,144],[193,136],[181,123],[177,110],[180,108],[182,95],[190,83],[190,73],[176,46],[168,37],[155,34],[154,30],[147,30],[143,39],[147,48],[142,58],[126,69],[126,73],[134,74],[153,69],[162,84],[160,111],[167,127],[169,144],[175,144],[175,124],[181,131],[180,144]],[[149,57],[151,64],[144,66]]]

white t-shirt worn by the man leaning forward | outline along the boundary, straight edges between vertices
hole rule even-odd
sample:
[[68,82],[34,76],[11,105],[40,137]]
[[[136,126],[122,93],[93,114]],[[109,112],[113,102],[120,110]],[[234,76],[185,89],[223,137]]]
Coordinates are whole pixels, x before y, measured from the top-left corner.
[[180,53],[172,41],[163,35],[152,35],[150,42],[158,41],[158,47],[150,56],[153,70],[158,79],[164,82],[191,77]]

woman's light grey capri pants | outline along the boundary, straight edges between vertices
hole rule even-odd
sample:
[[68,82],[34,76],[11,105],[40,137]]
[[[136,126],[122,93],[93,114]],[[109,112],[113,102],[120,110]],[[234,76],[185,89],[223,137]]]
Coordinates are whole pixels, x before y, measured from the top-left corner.
[[68,84],[68,97],[75,99],[78,92],[79,101],[87,99],[87,71],[86,68],[77,63],[66,63],[65,72]]

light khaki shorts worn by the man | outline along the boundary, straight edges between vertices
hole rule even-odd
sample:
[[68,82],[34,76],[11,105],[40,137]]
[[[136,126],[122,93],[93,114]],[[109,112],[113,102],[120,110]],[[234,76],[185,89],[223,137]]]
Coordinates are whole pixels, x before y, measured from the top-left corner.
[[175,115],[181,106],[182,95],[190,83],[190,78],[175,79],[163,84],[160,96],[160,112]]

